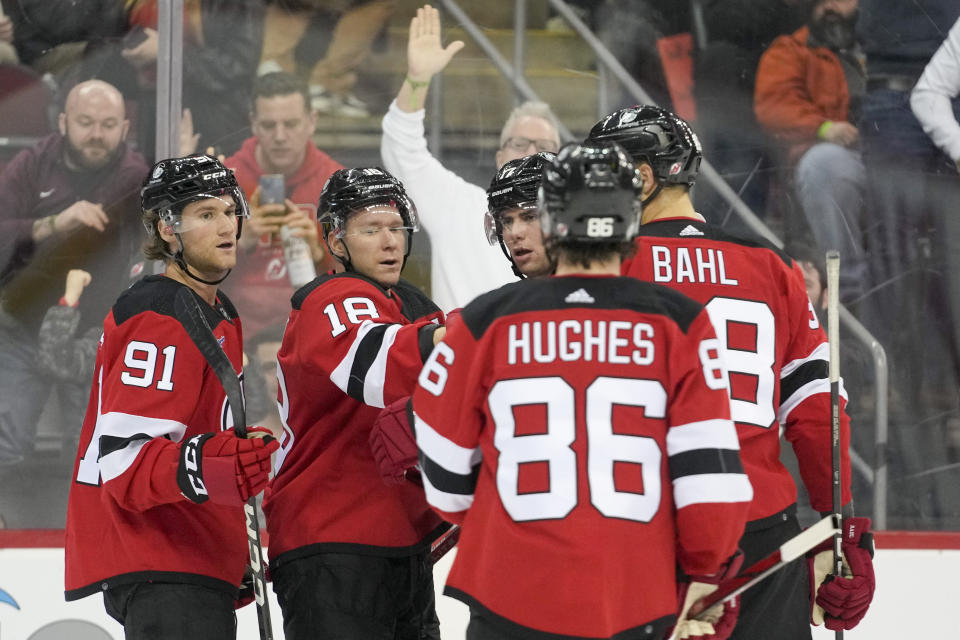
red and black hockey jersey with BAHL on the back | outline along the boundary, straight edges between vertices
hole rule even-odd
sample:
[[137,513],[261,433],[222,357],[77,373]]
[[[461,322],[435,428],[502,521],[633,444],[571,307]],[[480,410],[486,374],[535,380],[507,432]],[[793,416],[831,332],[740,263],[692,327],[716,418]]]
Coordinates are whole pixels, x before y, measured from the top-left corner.
[[[751,521],[797,500],[780,463],[780,434],[793,445],[817,511],[832,510],[830,352],[800,267],[773,247],[706,223],[644,225],[622,272],[662,283],[704,304],[726,348],[731,414],[753,484]],[[841,386],[843,502],[850,500],[850,420]]]

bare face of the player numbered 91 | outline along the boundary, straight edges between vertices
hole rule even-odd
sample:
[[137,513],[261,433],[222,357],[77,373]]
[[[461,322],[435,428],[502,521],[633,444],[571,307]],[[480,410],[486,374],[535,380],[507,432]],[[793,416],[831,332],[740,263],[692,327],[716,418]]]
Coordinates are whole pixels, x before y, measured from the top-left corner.
[[183,257],[201,277],[216,280],[237,264],[237,207],[229,195],[191,202],[180,233]]

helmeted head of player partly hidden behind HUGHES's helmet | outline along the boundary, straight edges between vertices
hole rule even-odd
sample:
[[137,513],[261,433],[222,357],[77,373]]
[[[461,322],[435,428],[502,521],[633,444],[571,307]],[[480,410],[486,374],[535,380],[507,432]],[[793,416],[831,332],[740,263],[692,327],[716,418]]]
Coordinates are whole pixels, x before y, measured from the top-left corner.
[[543,166],[556,157],[549,151],[511,160],[497,170],[487,189],[484,227],[487,241],[499,244],[519,278],[553,273],[540,229],[537,191]]

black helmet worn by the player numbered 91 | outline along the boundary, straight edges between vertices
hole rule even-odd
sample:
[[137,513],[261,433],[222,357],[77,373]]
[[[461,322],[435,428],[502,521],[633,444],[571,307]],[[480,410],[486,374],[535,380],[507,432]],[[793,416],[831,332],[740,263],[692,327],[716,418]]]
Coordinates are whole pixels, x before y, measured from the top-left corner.
[[[197,200],[233,196],[236,204],[237,238],[243,227],[243,220],[250,217],[250,208],[243,191],[237,184],[233,171],[203,153],[195,153],[184,158],[168,158],[153,165],[153,170],[143,181],[140,188],[140,208],[144,212],[155,212],[166,224],[180,234],[189,229],[183,228],[181,214],[183,208]],[[149,221],[144,220],[147,234],[156,235],[157,230]]]

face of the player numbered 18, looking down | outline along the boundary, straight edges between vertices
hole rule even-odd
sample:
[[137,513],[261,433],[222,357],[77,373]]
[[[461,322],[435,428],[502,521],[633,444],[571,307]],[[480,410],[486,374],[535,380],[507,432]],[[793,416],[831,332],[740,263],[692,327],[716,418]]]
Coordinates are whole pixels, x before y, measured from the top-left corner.
[[400,280],[407,228],[395,206],[374,205],[354,213],[347,219],[342,241],[358,273],[384,287]]

